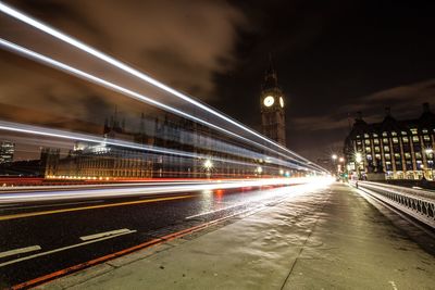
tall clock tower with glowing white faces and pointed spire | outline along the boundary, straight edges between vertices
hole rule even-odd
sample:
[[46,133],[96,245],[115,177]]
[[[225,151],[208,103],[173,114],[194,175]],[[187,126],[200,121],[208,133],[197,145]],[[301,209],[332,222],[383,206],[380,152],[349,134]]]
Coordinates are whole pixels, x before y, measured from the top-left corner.
[[284,108],[285,96],[271,61],[261,87],[261,128],[263,135],[282,146],[286,146]]

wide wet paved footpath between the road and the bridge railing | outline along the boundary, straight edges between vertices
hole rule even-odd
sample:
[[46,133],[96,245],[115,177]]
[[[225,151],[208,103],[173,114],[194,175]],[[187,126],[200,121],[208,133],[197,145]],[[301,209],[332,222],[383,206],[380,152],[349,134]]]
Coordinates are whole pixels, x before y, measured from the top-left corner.
[[434,289],[435,257],[344,184],[38,289]]

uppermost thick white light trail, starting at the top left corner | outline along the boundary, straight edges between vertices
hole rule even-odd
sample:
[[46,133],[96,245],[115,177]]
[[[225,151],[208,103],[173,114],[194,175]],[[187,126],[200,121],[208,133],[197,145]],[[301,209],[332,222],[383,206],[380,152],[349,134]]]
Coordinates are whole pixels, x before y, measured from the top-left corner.
[[[37,21],[37,20],[35,20],[35,18],[33,18],[33,17],[30,17],[30,16],[28,16],[28,15],[26,15],[26,14],[24,14],[24,13],[17,11],[17,10],[15,10],[15,9],[13,9],[13,8],[11,8],[10,5],[7,5],[7,4],[0,2],[0,11],[2,11],[3,13],[5,13],[5,14],[8,14],[8,15],[10,15],[10,16],[12,16],[12,17],[14,17],[14,18],[16,18],[16,20],[18,20],[18,21],[21,21],[23,23],[26,23],[26,24],[28,24],[28,25],[30,25],[30,26],[33,26],[33,27],[35,27],[35,28],[48,34],[48,35],[51,35],[54,38],[60,39],[60,40],[71,45],[71,46],[82,50],[82,51],[85,51],[85,52],[96,56],[97,59],[102,60],[102,61],[104,61],[104,62],[107,62],[107,63],[109,63],[109,64],[111,64],[111,65],[113,65],[113,66],[115,66],[115,67],[117,67],[117,68],[120,68],[120,70],[122,70],[122,71],[124,71],[124,72],[126,72],[128,74],[130,74],[130,75],[133,75],[133,76],[136,76],[139,79],[142,79],[142,80],[147,81],[148,84],[151,84],[151,85],[153,85],[153,86],[156,86],[156,87],[158,87],[158,88],[160,88],[160,89],[162,89],[162,90],[164,90],[166,92],[170,92],[171,94],[173,94],[173,96],[175,96],[175,97],[177,97],[177,98],[179,98],[179,99],[182,99],[184,101],[187,101],[187,102],[189,102],[189,103],[191,103],[191,104],[194,104],[194,105],[196,105],[196,106],[209,112],[210,114],[213,114],[213,115],[220,117],[221,119],[224,119],[225,122],[237,126],[238,128],[241,128],[243,130],[249,133],[250,135],[256,136],[256,137],[262,139],[262,140],[269,142],[270,144],[272,144],[272,146],[274,146],[276,148],[279,148],[281,150],[284,150],[285,152],[287,152],[287,153],[289,153],[289,154],[291,154],[291,155],[304,161],[307,165],[311,164],[312,166],[316,167],[316,169],[320,169],[322,172],[326,172],[326,169],[324,169],[321,166],[312,163],[311,161],[307,160],[306,157],[303,157],[303,156],[301,156],[301,155],[288,150],[287,148],[276,143],[274,141],[272,141],[271,139],[260,135],[259,133],[250,129],[249,127],[247,127],[247,126],[236,122],[235,119],[224,115],[223,113],[217,112],[216,110],[213,110],[212,108],[199,102],[198,100],[195,100],[195,99],[192,99],[192,98],[190,98],[190,97],[188,97],[188,96],[186,96],[186,94],[184,94],[184,93],[182,93],[182,92],[179,92],[179,91],[177,91],[177,90],[175,90],[175,89],[173,89],[173,88],[171,88],[171,87],[169,87],[169,86],[166,86],[166,85],[164,85],[164,84],[162,84],[162,83],[160,83],[160,81],[158,81],[156,79],[153,79],[152,77],[150,77],[150,76],[148,76],[148,75],[146,75],[146,74],[144,74],[144,73],[141,73],[141,72],[139,72],[139,71],[137,71],[137,70],[135,70],[135,68],[133,68],[130,66],[128,66],[128,65],[126,65],[125,63],[122,63],[122,62],[111,58],[110,55],[108,55],[108,54],[105,54],[105,53],[103,53],[101,51],[98,51],[95,48],[92,48],[90,46],[87,46],[86,43],[84,43],[84,42],[82,42],[82,41],[79,41],[79,40],[77,40],[77,39],[75,39],[75,38],[73,38],[71,36],[67,36],[65,34],[61,33],[60,30],[54,29],[53,27],[50,27],[49,25],[46,25],[46,24],[44,24],[44,23],[41,23],[41,22],[39,22],[39,21]],[[128,93],[128,94],[130,94],[130,93]]]

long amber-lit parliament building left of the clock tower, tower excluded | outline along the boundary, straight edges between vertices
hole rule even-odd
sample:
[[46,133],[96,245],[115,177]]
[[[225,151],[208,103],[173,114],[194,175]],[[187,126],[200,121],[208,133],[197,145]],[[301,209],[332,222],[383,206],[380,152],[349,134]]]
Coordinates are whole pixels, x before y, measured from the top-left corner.
[[[167,115],[163,119],[140,118],[139,133],[130,133],[112,117],[104,125],[108,140],[128,141],[150,150],[127,149],[107,143],[76,142],[67,156],[47,151],[47,178],[61,179],[132,179],[162,177],[234,177],[256,174],[252,159],[244,157],[240,144],[232,144],[225,136],[190,121]],[[232,147],[233,146],[233,147]],[[227,148],[232,147],[232,153]],[[152,149],[184,152],[190,156],[158,153]],[[198,157],[195,157],[198,156]],[[231,159],[240,164],[216,162]],[[256,166],[257,167],[257,166]],[[254,168],[256,168],[254,167]]]

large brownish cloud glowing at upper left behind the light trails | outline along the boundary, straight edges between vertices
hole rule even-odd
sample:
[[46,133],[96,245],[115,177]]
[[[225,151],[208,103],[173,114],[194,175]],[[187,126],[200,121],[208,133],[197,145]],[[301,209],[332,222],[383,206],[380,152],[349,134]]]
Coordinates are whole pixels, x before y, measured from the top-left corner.
[[[244,14],[224,1],[20,0],[9,3],[202,100],[215,96],[214,74],[232,70],[235,60],[231,52],[237,30],[246,25]],[[53,51],[46,36],[4,15],[1,17],[2,37],[87,64],[86,59],[79,60],[77,55],[64,56],[69,52],[62,47]],[[63,115],[101,124],[115,103],[121,111],[138,114],[137,105],[127,108],[126,103],[130,105],[132,102],[116,99],[116,93],[23,61],[9,52],[0,53],[3,68],[0,101],[46,112],[40,117],[34,115],[35,123],[53,124],[58,115]],[[15,121],[22,117],[28,119],[14,115]]]

